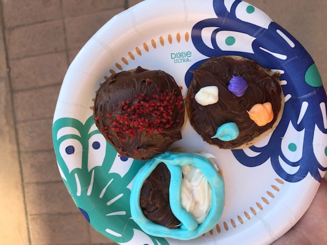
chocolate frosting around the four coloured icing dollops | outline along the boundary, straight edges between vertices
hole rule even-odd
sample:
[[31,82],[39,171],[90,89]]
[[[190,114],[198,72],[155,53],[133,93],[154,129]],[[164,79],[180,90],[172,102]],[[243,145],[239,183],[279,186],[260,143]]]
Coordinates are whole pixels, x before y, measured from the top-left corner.
[[[262,68],[255,61],[230,56],[213,57],[205,61],[195,71],[186,99],[186,109],[191,125],[209,144],[223,149],[235,149],[271,129],[281,110],[282,88],[279,74]],[[270,75],[272,74],[272,75]],[[248,88],[244,95],[237,97],[227,88],[232,76],[243,77]],[[219,101],[216,104],[201,106],[194,96],[205,86],[217,86]],[[247,111],[255,104],[270,102],[274,118],[269,124],[259,127],[249,118]],[[211,138],[219,126],[235,122],[239,127],[239,136],[231,141]]]

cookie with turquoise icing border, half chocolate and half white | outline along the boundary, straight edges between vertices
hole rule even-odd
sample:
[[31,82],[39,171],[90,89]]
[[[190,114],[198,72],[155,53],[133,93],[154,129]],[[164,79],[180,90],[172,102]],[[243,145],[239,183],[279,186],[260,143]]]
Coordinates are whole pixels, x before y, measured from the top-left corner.
[[147,234],[192,239],[213,229],[225,203],[224,181],[211,154],[165,152],[134,179],[131,215]]

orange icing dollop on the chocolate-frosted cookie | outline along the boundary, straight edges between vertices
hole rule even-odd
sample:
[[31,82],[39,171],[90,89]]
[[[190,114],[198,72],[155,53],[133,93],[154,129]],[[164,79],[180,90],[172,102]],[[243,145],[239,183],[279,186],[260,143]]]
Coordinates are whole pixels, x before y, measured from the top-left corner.
[[262,127],[274,118],[274,113],[272,111],[272,106],[270,102],[264,104],[255,104],[252,108],[247,111],[251,120],[255,122],[256,125]]

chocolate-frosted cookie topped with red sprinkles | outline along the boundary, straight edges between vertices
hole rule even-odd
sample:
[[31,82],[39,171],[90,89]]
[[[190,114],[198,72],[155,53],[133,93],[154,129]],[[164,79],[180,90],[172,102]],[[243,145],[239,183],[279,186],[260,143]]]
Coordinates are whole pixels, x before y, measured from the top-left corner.
[[184,103],[173,77],[137,67],[111,75],[100,86],[94,117],[117,152],[147,160],[181,139]]

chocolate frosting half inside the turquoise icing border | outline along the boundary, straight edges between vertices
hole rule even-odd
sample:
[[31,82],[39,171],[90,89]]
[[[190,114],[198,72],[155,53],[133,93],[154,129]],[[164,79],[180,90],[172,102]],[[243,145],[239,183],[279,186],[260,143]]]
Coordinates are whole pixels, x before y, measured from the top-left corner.
[[144,215],[152,222],[168,228],[179,228],[169,204],[170,171],[159,163],[145,180],[141,189],[140,204]]

